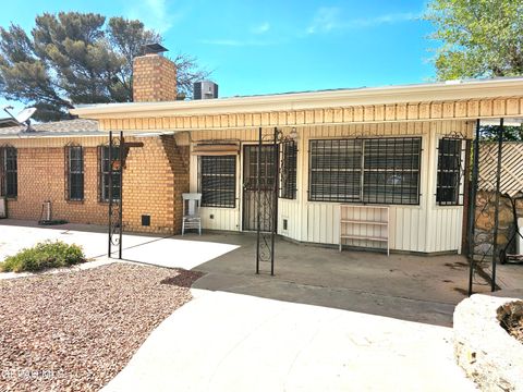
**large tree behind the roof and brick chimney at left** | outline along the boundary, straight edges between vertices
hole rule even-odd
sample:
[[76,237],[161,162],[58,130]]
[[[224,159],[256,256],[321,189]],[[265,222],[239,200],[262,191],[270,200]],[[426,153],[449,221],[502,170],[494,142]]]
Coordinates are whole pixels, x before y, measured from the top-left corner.
[[[15,24],[0,27],[0,94],[36,107],[35,118],[70,118],[78,103],[132,100],[132,63],[142,46],[161,37],[139,21],[93,13],[61,12],[36,16],[27,35]],[[177,54],[179,94],[208,76],[196,59]]]

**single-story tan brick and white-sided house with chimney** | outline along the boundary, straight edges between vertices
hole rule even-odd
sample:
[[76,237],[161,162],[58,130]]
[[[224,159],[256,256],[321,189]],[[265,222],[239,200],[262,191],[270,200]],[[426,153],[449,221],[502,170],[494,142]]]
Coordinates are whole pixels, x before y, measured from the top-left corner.
[[276,170],[267,159],[276,128],[284,142],[278,147],[278,234],[461,252],[465,156],[476,121],[521,118],[523,78],[175,98],[174,64],[149,53],[135,59],[134,102],[71,110],[97,121],[95,134],[0,136],[4,162],[17,157],[17,194],[3,191],[10,216],[38,219],[49,199],[57,219],[107,221],[108,131],[123,131],[126,142],[143,143],[127,151],[123,169],[125,230],[180,232],[181,194],[198,192],[204,230],[254,231],[258,133],[265,189]]

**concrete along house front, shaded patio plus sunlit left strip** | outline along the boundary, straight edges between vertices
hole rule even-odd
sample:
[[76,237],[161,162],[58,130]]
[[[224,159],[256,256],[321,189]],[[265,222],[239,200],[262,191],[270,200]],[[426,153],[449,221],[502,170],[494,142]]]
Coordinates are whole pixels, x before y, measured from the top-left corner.
[[[0,221],[0,259],[38,241],[62,240],[83,246],[89,258],[107,256],[105,226]],[[158,237],[125,234],[123,258],[206,273],[194,287],[319,305],[450,327],[455,304],[465,297],[469,267],[459,255],[412,256],[339,253],[336,248],[277,241],[276,277],[269,266],[255,272],[255,235],[205,233]],[[115,256],[115,255],[114,255]],[[523,282],[523,266],[498,268],[502,289]],[[488,285],[483,289],[488,292]]]

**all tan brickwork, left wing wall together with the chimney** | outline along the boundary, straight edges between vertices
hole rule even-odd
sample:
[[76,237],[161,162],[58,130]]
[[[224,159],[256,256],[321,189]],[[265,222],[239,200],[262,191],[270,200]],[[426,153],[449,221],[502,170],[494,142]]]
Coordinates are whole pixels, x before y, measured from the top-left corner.
[[[135,101],[177,99],[177,68],[159,54],[134,59],[133,98]],[[62,123],[66,126],[66,122]],[[51,124],[52,125],[52,124]],[[59,127],[60,123],[54,126]],[[107,135],[94,137],[47,137],[7,140],[17,148],[19,196],[8,200],[10,218],[39,220],[42,203],[51,201],[52,219],[73,223],[107,224],[108,203],[99,200],[100,163],[98,146]],[[182,196],[188,192],[188,147],[178,146],[174,135],[125,136],[125,142],[142,142],[129,150],[123,169],[122,200],[125,231],[175,234],[181,230]],[[68,144],[83,146],[84,200],[68,201]],[[142,225],[142,217],[150,225]]]

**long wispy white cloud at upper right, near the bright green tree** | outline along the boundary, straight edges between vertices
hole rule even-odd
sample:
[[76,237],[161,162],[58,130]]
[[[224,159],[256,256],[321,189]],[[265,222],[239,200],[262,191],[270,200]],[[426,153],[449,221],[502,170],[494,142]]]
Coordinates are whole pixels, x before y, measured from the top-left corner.
[[329,33],[332,30],[344,30],[351,28],[375,27],[382,24],[394,24],[414,21],[419,14],[413,12],[389,13],[378,16],[344,19],[341,10],[336,7],[321,7],[316,12],[313,22],[307,27],[307,34]]

